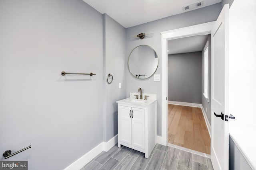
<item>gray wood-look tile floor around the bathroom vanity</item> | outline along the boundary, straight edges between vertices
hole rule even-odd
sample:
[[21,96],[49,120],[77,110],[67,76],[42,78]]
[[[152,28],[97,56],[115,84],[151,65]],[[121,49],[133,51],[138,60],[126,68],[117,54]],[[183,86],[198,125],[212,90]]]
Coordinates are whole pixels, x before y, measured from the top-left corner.
[[81,170],[213,170],[210,158],[156,144],[149,158],[144,153],[116,145],[102,152]]

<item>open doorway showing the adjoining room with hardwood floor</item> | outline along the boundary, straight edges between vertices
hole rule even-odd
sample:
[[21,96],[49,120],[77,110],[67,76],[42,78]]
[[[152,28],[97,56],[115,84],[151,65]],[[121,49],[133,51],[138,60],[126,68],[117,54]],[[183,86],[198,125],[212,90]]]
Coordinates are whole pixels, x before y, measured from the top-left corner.
[[207,110],[209,102],[203,94],[209,93],[204,80],[208,86],[210,37],[196,35],[168,41],[168,144],[206,154],[210,154],[210,132],[201,107]]

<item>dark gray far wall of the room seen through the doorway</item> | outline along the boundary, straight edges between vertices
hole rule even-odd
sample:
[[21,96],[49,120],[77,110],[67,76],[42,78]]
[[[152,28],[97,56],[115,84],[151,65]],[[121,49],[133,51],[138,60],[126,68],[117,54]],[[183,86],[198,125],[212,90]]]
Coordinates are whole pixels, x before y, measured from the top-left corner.
[[201,104],[202,52],[168,55],[168,100]]

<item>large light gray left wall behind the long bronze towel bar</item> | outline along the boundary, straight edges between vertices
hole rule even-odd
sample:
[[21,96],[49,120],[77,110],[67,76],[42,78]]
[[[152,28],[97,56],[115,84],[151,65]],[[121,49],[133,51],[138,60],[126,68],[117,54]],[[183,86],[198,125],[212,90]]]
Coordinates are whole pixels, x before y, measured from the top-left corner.
[[64,169],[102,143],[102,14],[82,0],[1,0],[0,16],[0,150],[31,145],[8,160]]

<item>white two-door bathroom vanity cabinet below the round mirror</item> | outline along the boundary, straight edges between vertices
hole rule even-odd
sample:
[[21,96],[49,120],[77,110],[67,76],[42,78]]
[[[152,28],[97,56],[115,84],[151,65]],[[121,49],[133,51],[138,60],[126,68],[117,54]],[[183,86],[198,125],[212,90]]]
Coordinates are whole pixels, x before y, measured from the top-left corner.
[[118,147],[138,150],[148,158],[156,145],[156,100],[140,103],[127,98],[117,103]]

